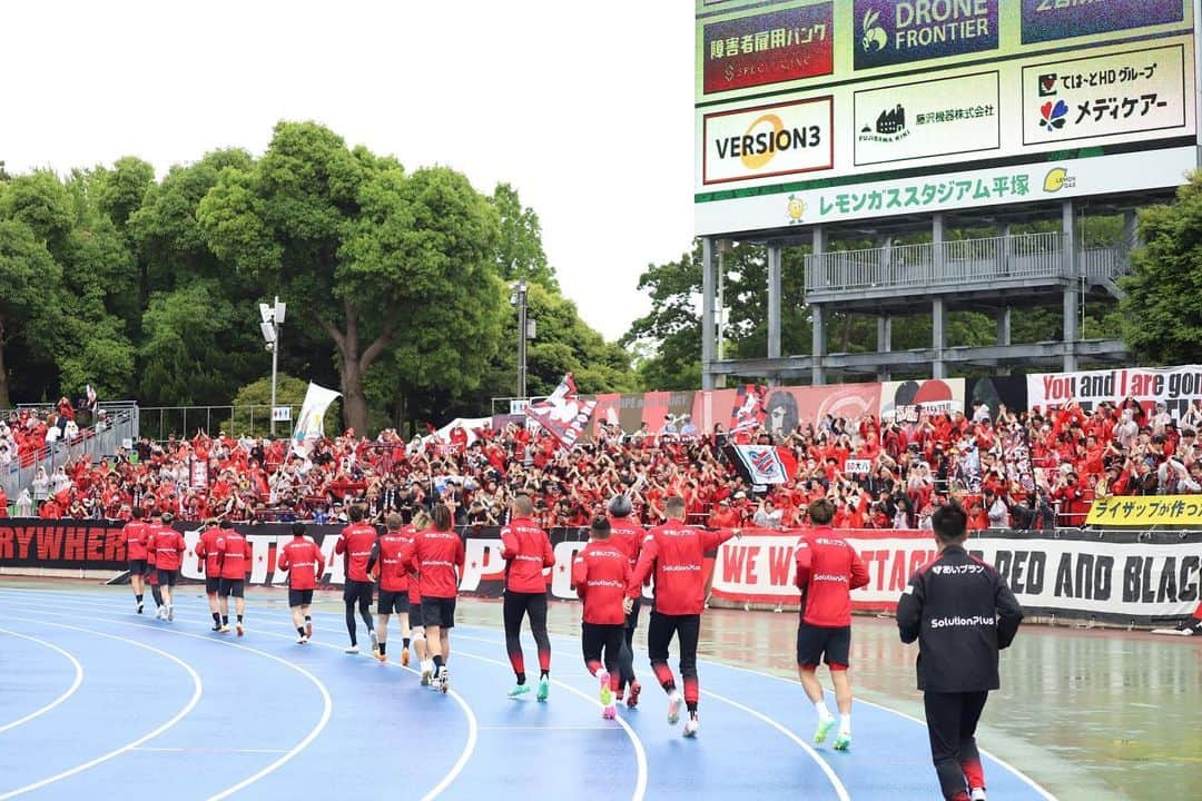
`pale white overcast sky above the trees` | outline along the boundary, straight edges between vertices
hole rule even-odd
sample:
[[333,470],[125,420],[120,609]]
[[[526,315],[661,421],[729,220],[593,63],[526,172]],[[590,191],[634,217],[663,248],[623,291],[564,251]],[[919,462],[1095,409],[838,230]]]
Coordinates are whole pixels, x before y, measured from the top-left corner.
[[692,237],[689,0],[20,2],[0,48],[10,172],[136,155],[161,177],[313,119],[406,169],[512,184],[607,339]]

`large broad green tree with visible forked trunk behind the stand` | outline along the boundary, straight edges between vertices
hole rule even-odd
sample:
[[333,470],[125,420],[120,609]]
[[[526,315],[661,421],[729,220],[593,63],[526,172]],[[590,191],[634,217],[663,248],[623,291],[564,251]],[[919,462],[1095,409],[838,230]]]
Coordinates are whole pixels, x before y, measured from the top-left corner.
[[[356,430],[368,422],[364,375],[398,336],[445,322],[438,309],[448,303],[499,303],[496,213],[463,175],[406,175],[314,122],[276,125],[257,163],[221,173],[197,220],[214,253],[278,288],[290,313],[328,337]],[[481,347],[496,330],[471,325],[493,318],[463,319],[446,335]]]

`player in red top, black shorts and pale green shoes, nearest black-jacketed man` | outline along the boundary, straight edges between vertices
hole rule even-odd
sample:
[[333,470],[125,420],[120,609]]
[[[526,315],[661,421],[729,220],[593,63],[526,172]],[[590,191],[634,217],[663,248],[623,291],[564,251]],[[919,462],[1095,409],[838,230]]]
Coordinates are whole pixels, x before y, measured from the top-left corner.
[[851,680],[847,665],[851,652],[851,591],[868,584],[868,570],[856,549],[831,528],[834,504],[819,498],[810,504],[814,528],[797,543],[797,588],[802,592],[802,615],[797,626],[797,674],[819,715],[814,743],[823,742],[834,728],[834,717],[822,697],[816,671],[826,658],[839,704],[837,751],[851,747]]

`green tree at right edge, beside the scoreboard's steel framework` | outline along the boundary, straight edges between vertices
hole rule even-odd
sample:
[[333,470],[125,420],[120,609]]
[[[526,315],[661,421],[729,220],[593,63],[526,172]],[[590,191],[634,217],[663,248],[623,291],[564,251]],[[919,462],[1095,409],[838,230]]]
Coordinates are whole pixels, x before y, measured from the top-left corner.
[[1143,246],[1119,282],[1126,343],[1156,364],[1202,361],[1202,173],[1139,213]]

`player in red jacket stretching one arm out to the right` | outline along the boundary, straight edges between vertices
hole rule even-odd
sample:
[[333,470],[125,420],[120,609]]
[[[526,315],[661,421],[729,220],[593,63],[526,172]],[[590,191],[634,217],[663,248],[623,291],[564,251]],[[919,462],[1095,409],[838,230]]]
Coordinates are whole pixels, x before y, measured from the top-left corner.
[[643,591],[647,576],[655,576],[655,603],[651,622],[647,628],[647,650],[651,669],[660,686],[668,694],[668,724],[680,719],[680,693],[668,668],[668,646],[673,636],[680,639],[680,676],[684,679],[684,704],[689,719],[684,736],[697,736],[697,638],[701,635],[701,612],[706,606],[706,552],[733,537],[737,531],[704,531],[684,525],[685,502],[678,495],[664,500],[668,519],[643,539],[638,564],[626,585],[626,612]]

